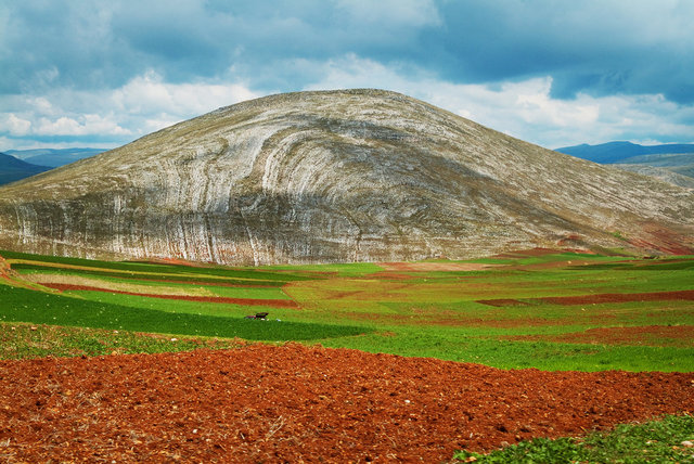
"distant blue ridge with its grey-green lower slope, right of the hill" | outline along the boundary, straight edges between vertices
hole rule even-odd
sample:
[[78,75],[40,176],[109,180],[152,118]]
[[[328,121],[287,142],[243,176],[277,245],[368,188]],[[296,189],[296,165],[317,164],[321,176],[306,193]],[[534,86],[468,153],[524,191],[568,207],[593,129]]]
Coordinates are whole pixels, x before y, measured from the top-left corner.
[[694,144],[639,145],[609,142],[576,145],[556,152],[620,169],[654,176],[676,185],[694,188]]

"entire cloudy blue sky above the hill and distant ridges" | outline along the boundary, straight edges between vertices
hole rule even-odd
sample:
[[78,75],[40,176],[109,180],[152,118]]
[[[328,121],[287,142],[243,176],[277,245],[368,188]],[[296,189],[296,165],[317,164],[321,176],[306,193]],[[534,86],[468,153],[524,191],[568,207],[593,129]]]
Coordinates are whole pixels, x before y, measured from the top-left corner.
[[547,146],[694,142],[691,0],[0,2],[0,151],[381,88]]

